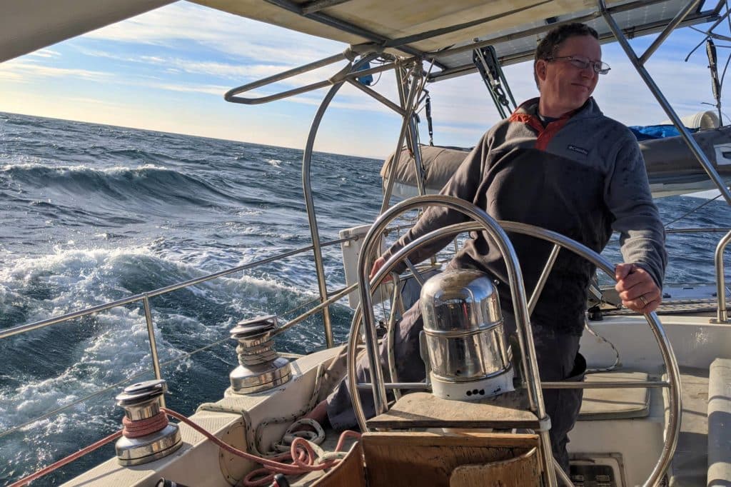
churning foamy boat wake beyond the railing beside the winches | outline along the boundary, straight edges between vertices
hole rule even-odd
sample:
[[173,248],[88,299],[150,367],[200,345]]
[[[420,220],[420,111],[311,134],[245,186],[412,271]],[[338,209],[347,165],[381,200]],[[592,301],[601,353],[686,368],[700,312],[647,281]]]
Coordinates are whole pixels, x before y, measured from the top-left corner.
[[[0,271],[0,327],[202,275],[196,265],[159,257],[150,248],[58,250],[18,258]],[[271,276],[241,274],[151,298],[159,357],[173,392],[172,407],[190,413],[196,404],[189,402],[197,401],[190,398],[219,396],[227,387],[228,374],[238,365],[228,334],[235,322],[271,313],[286,320],[297,314],[287,311],[315,298],[311,290],[276,282]],[[336,334],[344,339],[350,312],[339,307],[333,313],[340,323]],[[217,341],[221,343],[195,353]],[[277,341],[279,350],[303,353],[321,347],[322,334],[314,323],[305,324]],[[118,382],[152,378],[141,303],[11,337],[0,341],[0,354],[5,358],[0,375],[0,431],[6,431],[0,442],[0,480],[18,477],[18,470],[31,472],[118,429],[121,410],[113,400],[123,387]],[[99,393],[106,388],[110,389]],[[95,393],[99,395],[80,401]],[[42,417],[60,408],[67,409]],[[31,453],[37,451],[47,453]]]

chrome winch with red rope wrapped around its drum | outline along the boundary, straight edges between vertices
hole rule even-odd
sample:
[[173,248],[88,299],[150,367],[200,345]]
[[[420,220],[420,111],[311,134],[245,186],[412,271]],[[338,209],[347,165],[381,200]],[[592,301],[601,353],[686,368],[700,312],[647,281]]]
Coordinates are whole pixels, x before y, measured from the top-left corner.
[[115,398],[124,408],[124,436],[115,444],[120,464],[146,464],[183,445],[180,429],[168,423],[167,415],[160,410],[166,392],[164,380],[148,380],[124,388]]

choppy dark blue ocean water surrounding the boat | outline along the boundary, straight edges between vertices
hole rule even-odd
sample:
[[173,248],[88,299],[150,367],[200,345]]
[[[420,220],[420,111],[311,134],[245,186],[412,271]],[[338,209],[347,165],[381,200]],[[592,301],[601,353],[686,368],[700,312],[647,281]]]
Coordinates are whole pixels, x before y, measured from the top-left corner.
[[[0,328],[308,246],[301,159],[301,151],[289,148],[0,113]],[[322,241],[376,217],[380,164],[314,155]],[[702,203],[658,201],[665,222]],[[717,225],[730,227],[731,215],[713,201],[673,227]],[[711,282],[720,236],[670,235],[666,282]],[[324,253],[335,290],[344,284],[339,246]],[[606,254],[619,260],[616,246]],[[152,298],[160,360],[180,359],[163,368],[168,407],[191,414],[221,396],[237,365],[227,340],[235,322],[273,313],[285,321],[317,296],[305,253]],[[344,305],[331,313],[342,341],[352,314]],[[319,317],[290,332],[278,337],[278,350],[324,346]],[[138,304],[0,340],[0,483],[118,430],[121,409],[113,396],[121,386],[35,418],[148,371],[149,355]],[[8,433],[20,425],[26,426]],[[108,445],[38,485],[61,483],[113,454]]]

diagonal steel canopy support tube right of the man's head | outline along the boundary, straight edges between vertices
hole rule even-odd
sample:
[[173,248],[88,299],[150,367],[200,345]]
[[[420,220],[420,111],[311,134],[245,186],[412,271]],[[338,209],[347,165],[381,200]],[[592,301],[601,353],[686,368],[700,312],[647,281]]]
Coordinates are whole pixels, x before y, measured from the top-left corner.
[[[691,0],[689,2],[689,7],[694,6],[694,4],[697,4],[699,0]],[[675,110],[673,110],[673,107],[670,106],[670,103],[667,102],[667,99],[665,99],[664,95],[662,94],[662,91],[660,91],[660,88],[656,85],[655,81],[650,76],[650,73],[648,73],[647,69],[645,69],[645,66],[643,65],[643,62],[640,61],[639,58],[637,58],[637,54],[635,53],[635,50],[632,49],[632,46],[629,45],[629,42],[627,41],[627,38],[624,36],[624,33],[622,32],[622,29],[619,28],[617,23],[615,22],[614,18],[610,14],[609,10],[607,10],[607,6],[605,5],[605,0],[598,0],[599,2],[599,12],[602,12],[602,16],[607,21],[607,25],[613,32],[614,36],[617,39],[617,42],[619,42],[619,45],[622,46],[622,49],[624,49],[624,53],[626,53],[627,58],[629,58],[629,61],[632,62],[632,66],[637,69],[637,73],[640,75],[641,78],[643,78],[643,81],[647,85],[648,88],[650,88],[650,91],[654,95],[654,97],[657,99],[657,102],[662,106],[663,110],[665,110],[665,113],[667,114],[668,118],[673,121],[673,124],[678,129],[678,132],[680,132],[681,137],[683,137],[683,140],[688,145],[696,159],[698,159],[698,162],[700,162],[700,165],[702,165],[703,169],[706,173],[708,173],[708,177],[711,178],[711,181],[713,181],[714,184],[716,184],[716,187],[721,192],[721,195],[724,196],[726,203],[731,205],[731,192],[729,189],[725,186],[723,179],[721,179],[721,176],[718,172],[716,172],[716,168],[713,167],[711,162],[708,160],[708,157],[703,154],[702,149],[700,146],[698,146],[698,143],[695,141],[695,139],[690,135],[690,132],[688,132],[688,129],[683,126],[683,122],[681,122],[681,119],[678,117],[678,114],[675,113]],[[683,14],[683,18],[685,15],[688,14],[690,11],[690,8],[686,8],[681,10],[681,14]],[[683,18],[678,19],[676,17],[673,19],[673,22],[670,25],[677,25],[680,23]],[[677,20],[677,22],[676,22]],[[663,31],[660,34],[660,37],[664,39],[667,37],[667,35],[670,34],[670,31],[667,29]],[[651,48],[656,49],[658,45],[651,45]],[[649,53],[651,54],[651,52]],[[649,56],[648,54],[648,56]]]

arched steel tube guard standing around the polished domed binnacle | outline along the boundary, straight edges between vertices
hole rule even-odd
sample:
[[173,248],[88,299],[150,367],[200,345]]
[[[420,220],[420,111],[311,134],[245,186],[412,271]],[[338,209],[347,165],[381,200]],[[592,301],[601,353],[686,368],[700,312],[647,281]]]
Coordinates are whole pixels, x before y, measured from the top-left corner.
[[[508,284],[510,285],[510,292],[512,295],[513,309],[515,309],[515,322],[518,329],[518,341],[520,342],[520,348],[523,350],[523,367],[526,371],[526,388],[528,390],[529,400],[531,404],[531,410],[533,410],[539,420],[542,423],[548,423],[548,417],[545,412],[545,406],[543,404],[543,394],[539,387],[539,373],[538,365],[536,360],[536,351],[533,343],[533,333],[531,330],[531,323],[529,320],[528,305],[526,300],[526,290],[523,285],[523,275],[520,273],[520,264],[518,263],[518,257],[515,254],[515,250],[510,244],[510,240],[507,238],[504,230],[497,224],[497,222],[485,211],[475,207],[471,203],[461,200],[456,197],[433,195],[433,196],[419,196],[413,197],[404,202],[398,203],[393,206],[384,214],[376,219],[376,222],[368,230],[366,238],[363,240],[363,249],[360,252],[358,258],[358,287],[360,290],[360,303],[362,309],[365,311],[363,314],[363,324],[365,327],[366,336],[366,352],[368,354],[368,365],[371,371],[371,389],[374,394],[374,403],[376,409],[376,415],[381,414],[387,410],[385,383],[383,380],[383,370],[379,360],[378,340],[376,337],[376,328],[374,326],[374,315],[373,315],[373,300],[371,299],[371,283],[368,282],[368,273],[370,271],[367,268],[371,263],[372,254],[374,254],[377,243],[382,233],[385,231],[387,224],[393,221],[395,217],[403,214],[406,211],[410,211],[416,208],[428,207],[428,206],[441,206],[451,208],[455,211],[459,211],[465,216],[473,219],[480,224],[480,228],[486,231],[493,241],[496,242],[501,255],[504,258],[505,265],[507,268]],[[406,257],[409,252],[412,252],[417,246],[423,245],[423,243],[431,240],[433,235],[437,238],[443,237],[445,233],[449,232],[449,228],[435,230],[428,235],[424,235],[422,238],[417,238],[415,241],[404,246],[403,249],[396,252],[384,265],[376,276],[374,276],[373,282],[379,283],[383,276],[387,272],[390,272],[391,268],[395,263],[399,262],[403,257]],[[357,322],[354,319],[354,325],[351,328],[351,342],[354,340],[353,337],[359,334],[360,320]],[[349,349],[348,353],[348,366],[349,366],[349,385],[350,390],[357,390],[357,384],[355,384],[355,347]],[[353,367],[351,367],[353,366]],[[360,397],[357,393],[351,394],[353,407],[356,412],[358,423],[360,423],[363,431],[368,431],[366,420],[363,416],[363,408],[360,405]],[[546,479],[548,480],[548,486],[556,486],[556,472],[553,468],[553,453],[551,453],[550,439],[548,437],[548,429],[542,429],[539,431],[541,436],[541,449],[542,458],[545,459],[544,467],[546,472]]]

